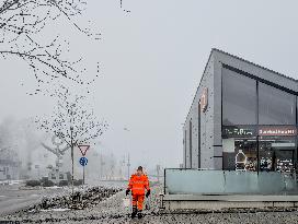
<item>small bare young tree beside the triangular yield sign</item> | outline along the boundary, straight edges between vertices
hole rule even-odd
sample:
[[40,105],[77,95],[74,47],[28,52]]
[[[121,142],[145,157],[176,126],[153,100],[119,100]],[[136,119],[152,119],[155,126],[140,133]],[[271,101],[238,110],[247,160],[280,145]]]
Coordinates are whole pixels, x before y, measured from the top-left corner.
[[80,144],[90,144],[107,129],[107,122],[100,121],[87,97],[72,95],[68,89],[56,90],[57,106],[50,117],[36,118],[37,128],[66,141],[71,149],[73,184],[73,149]]

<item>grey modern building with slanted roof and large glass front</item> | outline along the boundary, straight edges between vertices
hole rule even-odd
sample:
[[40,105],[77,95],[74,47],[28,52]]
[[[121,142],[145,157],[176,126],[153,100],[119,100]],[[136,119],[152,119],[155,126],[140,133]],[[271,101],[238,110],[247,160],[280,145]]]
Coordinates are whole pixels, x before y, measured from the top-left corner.
[[213,49],[183,128],[185,168],[297,168],[298,82]]

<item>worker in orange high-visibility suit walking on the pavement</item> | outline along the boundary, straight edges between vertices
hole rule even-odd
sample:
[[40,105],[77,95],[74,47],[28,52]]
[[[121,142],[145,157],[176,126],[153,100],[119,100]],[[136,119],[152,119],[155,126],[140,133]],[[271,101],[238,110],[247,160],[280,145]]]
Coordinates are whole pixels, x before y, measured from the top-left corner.
[[129,191],[131,190],[133,194],[133,213],[131,217],[138,215],[138,217],[142,217],[142,203],[145,199],[145,189],[146,198],[150,196],[150,187],[149,180],[146,174],[142,172],[142,167],[139,166],[136,174],[133,174],[129,184],[126,190],[126,196],[128,196]]

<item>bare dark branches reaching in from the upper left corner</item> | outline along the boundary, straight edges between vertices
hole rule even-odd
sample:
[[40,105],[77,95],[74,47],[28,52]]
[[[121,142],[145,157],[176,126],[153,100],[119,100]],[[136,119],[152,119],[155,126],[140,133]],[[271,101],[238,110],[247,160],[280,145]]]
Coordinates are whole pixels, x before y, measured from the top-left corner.
[[80,76],[84,69],[77,64],[82,58],[76,61],[64,58],[62,51],[69,50],[67,38],[55,36],[47,44],[41,38],[45,27],[67,21],[78,32],[99,39],[100,34],[76,23],[85,5],[87,0],[0,0],[0,56],[24,60],[38,85],[58,78],[80,84],[92,82]]

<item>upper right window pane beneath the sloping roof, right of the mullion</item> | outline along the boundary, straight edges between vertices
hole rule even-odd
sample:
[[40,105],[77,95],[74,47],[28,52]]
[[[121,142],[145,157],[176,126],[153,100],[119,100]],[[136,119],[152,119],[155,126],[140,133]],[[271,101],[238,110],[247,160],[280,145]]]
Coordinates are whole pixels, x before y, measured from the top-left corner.
[[295,125],[295,95],[259,82],[259,123]]

